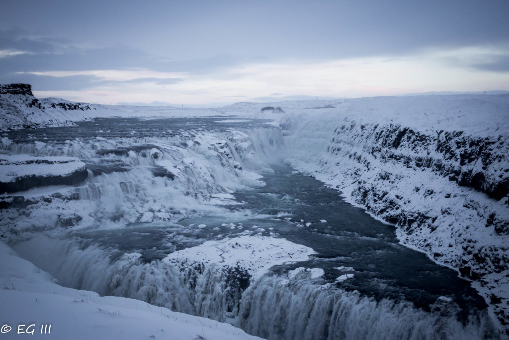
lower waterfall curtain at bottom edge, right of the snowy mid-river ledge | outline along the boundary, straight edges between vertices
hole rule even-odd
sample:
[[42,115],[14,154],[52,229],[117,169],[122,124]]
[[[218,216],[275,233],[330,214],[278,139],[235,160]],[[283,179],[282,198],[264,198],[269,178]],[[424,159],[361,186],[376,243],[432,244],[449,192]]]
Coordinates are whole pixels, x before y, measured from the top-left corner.
[[266,276],[244,293],[238,326],[267,339],[496,338],[486,311],[461,322],[453,303],[437,302],[433,309],[377,302],[330,283]]

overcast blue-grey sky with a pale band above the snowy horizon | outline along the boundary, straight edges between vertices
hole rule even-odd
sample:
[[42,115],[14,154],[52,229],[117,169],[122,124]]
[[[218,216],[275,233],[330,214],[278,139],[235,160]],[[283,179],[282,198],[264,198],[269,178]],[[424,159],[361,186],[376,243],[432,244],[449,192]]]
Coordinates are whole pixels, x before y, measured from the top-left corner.
[[222,106],[509,92],[509,0],[2,0],[0,84]]

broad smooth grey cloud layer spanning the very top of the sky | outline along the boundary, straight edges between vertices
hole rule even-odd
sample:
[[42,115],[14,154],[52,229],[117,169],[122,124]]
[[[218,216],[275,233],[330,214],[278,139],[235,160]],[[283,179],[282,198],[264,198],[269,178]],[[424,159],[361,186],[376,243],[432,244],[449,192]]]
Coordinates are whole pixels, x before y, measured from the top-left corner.
[[[112,2],[90,6],[87,2],[70,4],[64,0],[32,1],[27,11],[26,2],[11,1],[0,12],[0,27],[20,24],[48,35],[99,41],[103,45],[123,43],[139,46],[150,54],[181,60],[202,59],[205,63],[220,53],[323,60],[395,56],[427,47],[509,41],[506,0],[219,1],[137,5],[134,0],[126,0],[122,8]],[[53,42],[44,43],[51,46]],[[44,48],[40,46],[38,50]],[[228,61],[214,61],[216,65],[222,62]],[[149,65],[188,69],[203,66],[186,62]]]

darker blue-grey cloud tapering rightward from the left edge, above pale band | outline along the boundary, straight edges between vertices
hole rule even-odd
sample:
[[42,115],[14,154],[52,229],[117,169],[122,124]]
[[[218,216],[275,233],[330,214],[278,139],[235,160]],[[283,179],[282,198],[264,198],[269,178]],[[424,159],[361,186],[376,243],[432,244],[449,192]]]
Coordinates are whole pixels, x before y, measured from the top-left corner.
[[[207,58],[175,60],[128,46],[84,48],[64,39],[30,38],[22,31],[0,32],[0,49],[26,51],[29,54],[0,58],[0,77],[7,72],[83,71],[145,68],[161,72],[191,72],[203,74],[261,61],[262,57],[236,57],[215,55]],[[156,82],[160,85],[175,84],[179,79],[140,79],[136,82]]]

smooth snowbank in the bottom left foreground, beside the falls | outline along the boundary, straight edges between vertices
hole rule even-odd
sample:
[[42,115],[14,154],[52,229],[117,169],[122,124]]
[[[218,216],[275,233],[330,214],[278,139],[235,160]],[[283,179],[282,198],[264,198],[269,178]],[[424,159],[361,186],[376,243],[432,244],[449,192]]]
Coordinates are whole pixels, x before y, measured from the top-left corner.
[[[0,287],[0,320],[12,327],[2,338],[22,336],[17,334],[18,326],[25,325],[21,330],[35,330],[35,338],[259,339],[229,324],[139,300],[100,297],[97,293],[62,287],[3,242],[0,242]],[[35,326],[30,328],[32,324]],[[51,333],[41,334],[41,325],[51,325]]]

